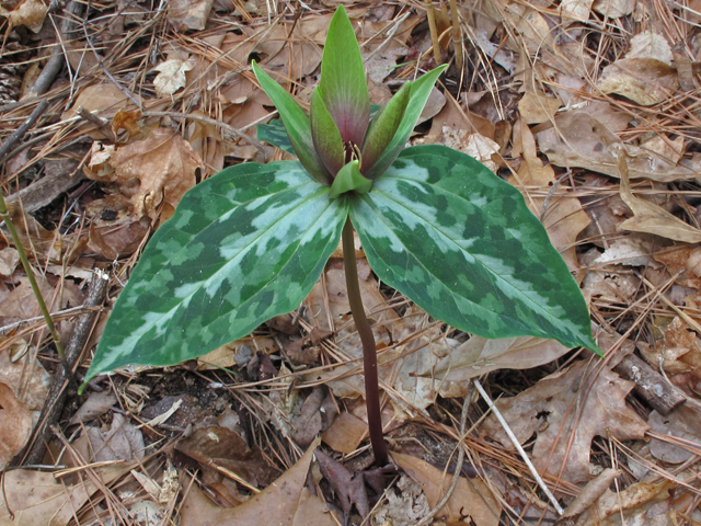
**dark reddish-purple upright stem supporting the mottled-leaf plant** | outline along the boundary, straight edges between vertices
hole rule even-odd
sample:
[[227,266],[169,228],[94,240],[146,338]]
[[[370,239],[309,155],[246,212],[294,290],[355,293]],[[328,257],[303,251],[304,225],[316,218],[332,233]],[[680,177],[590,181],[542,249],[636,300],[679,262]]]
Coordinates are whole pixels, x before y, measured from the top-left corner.
[[382,411],[380,409],[380,386],[377,376],[377,347],[370,323],[365,316],[358,268],[355,262],[355,245],[353,242],[353,225],[350,218],[343,227],[343,262],[346,270],[346,288],[348,304],[355,327],[363,342],[363,368],[365,369],[365,401],[368,408],[368,425],[370,427],[370,444],[375,454],[375,461],[380,466],[389,464],[387,444],[382,435]]

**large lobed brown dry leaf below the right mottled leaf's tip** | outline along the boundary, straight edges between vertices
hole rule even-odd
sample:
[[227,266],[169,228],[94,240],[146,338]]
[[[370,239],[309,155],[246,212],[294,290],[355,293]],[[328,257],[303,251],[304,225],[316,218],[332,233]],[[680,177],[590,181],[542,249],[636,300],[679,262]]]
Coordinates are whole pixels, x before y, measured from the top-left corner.
[[[598,361],[576,362],[518,396],[496,402],[521,444],[537,434],[532,450],[536,467],[558,476],[564,466],[562,477],[573,483],[591,478],[589,453],[595,436],[640,439],[648,428],[625,404],[635,384],[609,368],[598,370],[600,365]],[[482,430],[505,447],[513,447],[494,415],[485,420]],[[565,455],[573,432],[572,448]]]

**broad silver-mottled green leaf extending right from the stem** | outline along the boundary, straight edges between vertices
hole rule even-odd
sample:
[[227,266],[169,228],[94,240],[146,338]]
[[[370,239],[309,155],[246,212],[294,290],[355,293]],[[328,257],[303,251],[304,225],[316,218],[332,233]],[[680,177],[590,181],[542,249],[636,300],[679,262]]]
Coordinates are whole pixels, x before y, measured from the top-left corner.
[[599,352],[589,313],[520,193],[441,146],[402,151],[350,205],[377,275],[434,318],[484,338],[532,335]]

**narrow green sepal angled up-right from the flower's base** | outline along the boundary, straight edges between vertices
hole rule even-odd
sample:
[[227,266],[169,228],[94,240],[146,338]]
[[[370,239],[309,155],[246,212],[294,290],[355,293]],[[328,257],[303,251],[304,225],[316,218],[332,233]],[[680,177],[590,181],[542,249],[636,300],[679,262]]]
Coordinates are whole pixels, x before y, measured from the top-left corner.
[[375,162],[375,164],[365,172],[366,178],[374,181],[377,180],[387,171],[388,168],[392,165],[397,156],[399,156],[402,149],[404,149],[404,145],[411,137],[414,126],[416,126],[416,121],[418,121],[418,117],[421,116],[421,112],[424,111],[424,106],[426,105],[426,102],[428,102],[430,90],[434,89],[434,84],[438,80],[438,77],[447,67],[448,65],[439,66],[412,83],[409,94],[409,104],[406,105],[406,111],[404,112],[402,122],[400,123],[399,128],[397,128],[394,137],[392,137],[390,144],[384,148],[384,152],[380,156],[377,162]]

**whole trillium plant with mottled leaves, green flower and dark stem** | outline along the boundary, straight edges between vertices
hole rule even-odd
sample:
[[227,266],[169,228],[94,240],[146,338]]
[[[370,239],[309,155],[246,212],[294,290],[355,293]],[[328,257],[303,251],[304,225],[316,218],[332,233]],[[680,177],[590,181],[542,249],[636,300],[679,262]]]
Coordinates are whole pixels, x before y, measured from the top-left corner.
[[485,338],[533,335],[600,352],[577,284],[519,192],[464,153],[404,148],[444,67],[407,81],[371,115],[360,49],[340,7],[309,115],[252,68],[281,117],[258,137],[291,147],[299,161],[237,164],[185,195],[119,295],[87,380],[200,356],[295,310],[343,238],[370,441],[386,464],[354,229],[377,276],[437,320]]

